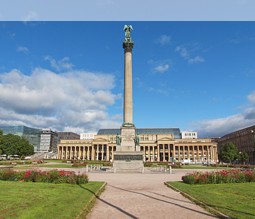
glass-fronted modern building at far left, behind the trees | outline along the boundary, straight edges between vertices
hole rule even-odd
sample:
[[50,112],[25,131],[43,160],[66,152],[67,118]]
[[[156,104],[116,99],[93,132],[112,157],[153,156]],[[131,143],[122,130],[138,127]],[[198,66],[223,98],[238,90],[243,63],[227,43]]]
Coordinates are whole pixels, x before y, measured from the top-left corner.
[[40,148],[41,129],[27,126],[0,126],[0,130],[3,130],[4,135],[13,134],[24,137],[34,146],[34,151],[38,151]]

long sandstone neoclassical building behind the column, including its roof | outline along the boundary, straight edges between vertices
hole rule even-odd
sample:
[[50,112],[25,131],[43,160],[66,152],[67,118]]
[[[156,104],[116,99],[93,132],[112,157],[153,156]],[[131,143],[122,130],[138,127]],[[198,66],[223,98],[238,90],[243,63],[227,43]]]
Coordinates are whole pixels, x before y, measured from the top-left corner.
[[[94,139],[61,140],[58,158],[112,161],[120,129],[100,129]],[[217,143],[209,138],[182,138],[178,128],[136,129],[145,162],[218,161]]]

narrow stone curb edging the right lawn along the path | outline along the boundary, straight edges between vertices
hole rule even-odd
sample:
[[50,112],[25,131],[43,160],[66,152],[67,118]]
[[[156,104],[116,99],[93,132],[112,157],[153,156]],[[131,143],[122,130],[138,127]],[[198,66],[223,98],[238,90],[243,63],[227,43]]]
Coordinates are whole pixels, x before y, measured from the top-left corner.
[[189,200],[191,200],[191,201],[194,202],[195,204],[201,206],[202,208],[204,208],[205,210],[209,211],[210,213],[212,213],[212,214],[218,216],[220,219],[231,219],[231,217],[229,217],[229,216],[227,216],[227,215],[221,213],[220,211],[216,210],[216,209],[213,208],[213,207],[208,206],[206,203],[197,200],[196,198],[194,198],[194,197],[190,196],[189,194],[187,194],[187,193],[185,193],[185,192],[183,192],[183,191],[181,191],[181,190],[175,188],[174,186],[167,184],[167,182],[164,182],[164,184],[165,184],[167,187],[173,189],[174,191],[179,192],[179,193],[182,194],[184,197],[188,198]]

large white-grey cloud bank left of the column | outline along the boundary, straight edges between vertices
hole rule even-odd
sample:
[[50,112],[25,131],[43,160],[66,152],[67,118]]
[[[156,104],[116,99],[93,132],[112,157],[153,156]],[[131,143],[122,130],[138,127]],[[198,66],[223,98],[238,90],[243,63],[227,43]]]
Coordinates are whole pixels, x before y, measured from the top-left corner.
[[61,130],[97,131],[119,127],[107,113],[120,94],[112,93],[110,74],[34,69],[0,74],[0,124]]

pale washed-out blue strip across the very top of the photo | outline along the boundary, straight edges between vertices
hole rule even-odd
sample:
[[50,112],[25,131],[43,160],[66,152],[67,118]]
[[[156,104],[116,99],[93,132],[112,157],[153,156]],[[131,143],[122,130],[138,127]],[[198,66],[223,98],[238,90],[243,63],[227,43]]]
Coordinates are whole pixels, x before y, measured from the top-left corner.
[[254,20],[254,0],[1,0],[0,20]]

